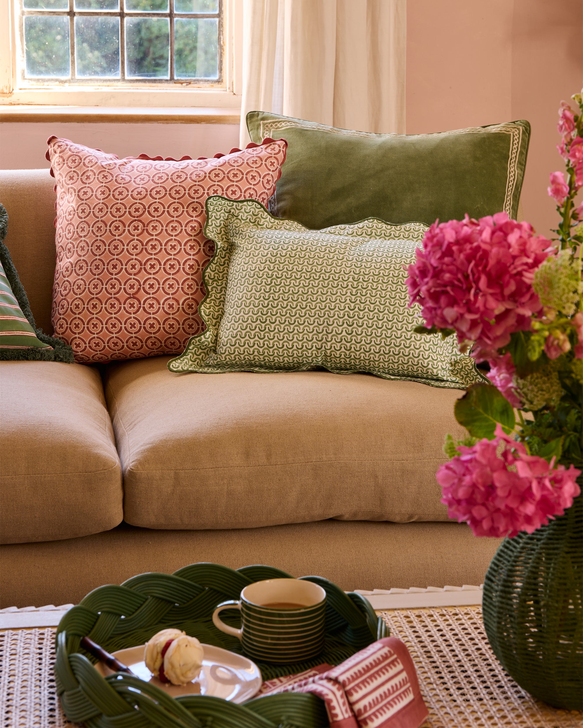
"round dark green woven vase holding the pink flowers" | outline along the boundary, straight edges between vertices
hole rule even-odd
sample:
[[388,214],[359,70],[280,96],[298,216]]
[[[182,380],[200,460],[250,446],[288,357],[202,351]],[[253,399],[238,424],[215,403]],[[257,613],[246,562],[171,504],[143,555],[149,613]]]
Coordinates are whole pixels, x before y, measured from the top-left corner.
[[583,496],[533,534],[504,539],[484,582],[490,645],[539,700],[583,708]]

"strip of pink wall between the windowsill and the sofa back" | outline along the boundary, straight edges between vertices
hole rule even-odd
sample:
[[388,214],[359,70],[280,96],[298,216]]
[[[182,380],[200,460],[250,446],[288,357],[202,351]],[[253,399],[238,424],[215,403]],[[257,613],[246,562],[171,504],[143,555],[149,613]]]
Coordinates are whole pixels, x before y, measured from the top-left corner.
[[239,146],[238,124],[1,124],[0,168],[50,167],[44,159],[50,135],[118,157],[213,157]]

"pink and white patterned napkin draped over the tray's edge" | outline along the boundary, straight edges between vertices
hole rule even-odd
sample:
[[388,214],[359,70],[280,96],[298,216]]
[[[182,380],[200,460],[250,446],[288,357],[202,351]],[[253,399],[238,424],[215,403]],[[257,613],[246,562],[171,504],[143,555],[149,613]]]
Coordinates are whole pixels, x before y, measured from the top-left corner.
[[418,728],[428,715],[409,651],[396,637],[369,644],[335,668],[318,665],[269,680],[259,695],[278,692],[321,697],[330,728]]

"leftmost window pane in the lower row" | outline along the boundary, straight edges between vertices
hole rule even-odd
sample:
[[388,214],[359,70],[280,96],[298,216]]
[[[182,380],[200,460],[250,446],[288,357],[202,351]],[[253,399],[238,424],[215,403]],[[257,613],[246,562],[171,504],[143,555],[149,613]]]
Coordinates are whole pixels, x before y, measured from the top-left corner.
[[62,79],[71,75],[67,15],[25,15],[24,46],[29,78]]

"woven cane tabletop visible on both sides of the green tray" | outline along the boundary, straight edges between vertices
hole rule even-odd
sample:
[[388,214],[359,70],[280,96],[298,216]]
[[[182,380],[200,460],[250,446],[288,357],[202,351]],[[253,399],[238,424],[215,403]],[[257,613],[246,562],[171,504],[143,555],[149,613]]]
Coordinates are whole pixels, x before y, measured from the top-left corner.
[[[407,644],[429,719],[423,728],[580,728],[517,686],[498,664],[479,606],[379,612]],[[66,728],[55,691],[54,627],[0,632],[0,726]]]

